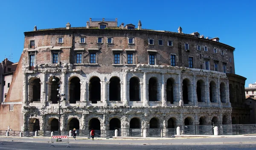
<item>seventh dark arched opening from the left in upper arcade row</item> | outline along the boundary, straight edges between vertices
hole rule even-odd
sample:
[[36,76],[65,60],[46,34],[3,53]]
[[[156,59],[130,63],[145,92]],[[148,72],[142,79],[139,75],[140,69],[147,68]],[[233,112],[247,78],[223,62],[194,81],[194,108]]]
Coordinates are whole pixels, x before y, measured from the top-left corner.
[[157,101],[157,78],[152,77],[148,81],[148,99]]

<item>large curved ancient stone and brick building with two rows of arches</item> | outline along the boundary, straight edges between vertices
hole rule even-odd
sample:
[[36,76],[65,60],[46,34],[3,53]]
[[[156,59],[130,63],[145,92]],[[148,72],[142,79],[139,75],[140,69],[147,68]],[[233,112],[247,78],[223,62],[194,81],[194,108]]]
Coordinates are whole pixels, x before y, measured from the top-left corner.
[[240,89],[245,78],[235,74],[235,48],[218,37],[184,34],[180,27],[170,32],[142,29],[140,21],[137,28],[117,25],[117,19],[90,18],[86,27],[67,23],[25,32],[15,72],[20,86],[11,85],[19,97],[7,99],[15,100],[19,123],[0,127],[58,130],[59,121],[60,130],[232,123],[231,103],[245,97]]

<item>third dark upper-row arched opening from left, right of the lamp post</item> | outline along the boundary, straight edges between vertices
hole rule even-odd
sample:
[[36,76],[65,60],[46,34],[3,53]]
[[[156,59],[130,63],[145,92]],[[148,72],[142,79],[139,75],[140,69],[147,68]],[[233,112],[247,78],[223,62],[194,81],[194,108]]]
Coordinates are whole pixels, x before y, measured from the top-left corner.
[[80,87],[80,79],[78,77],[73,77],[70,80],[70,104],[75,104],[76,101],[80,101]]

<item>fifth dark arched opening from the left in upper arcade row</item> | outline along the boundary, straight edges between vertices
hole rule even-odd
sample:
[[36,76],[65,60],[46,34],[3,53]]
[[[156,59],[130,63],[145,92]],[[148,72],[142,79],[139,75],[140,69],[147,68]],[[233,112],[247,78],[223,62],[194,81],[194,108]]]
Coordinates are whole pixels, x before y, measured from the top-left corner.
[[112,77],[109,83],[109,100],[121,101],[121,85],[118,77]]

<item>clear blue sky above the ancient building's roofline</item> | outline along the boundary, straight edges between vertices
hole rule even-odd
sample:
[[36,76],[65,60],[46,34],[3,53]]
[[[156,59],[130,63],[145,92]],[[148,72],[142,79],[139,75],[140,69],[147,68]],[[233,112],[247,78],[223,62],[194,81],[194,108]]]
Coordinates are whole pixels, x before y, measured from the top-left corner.
[[[254,0],[2,0],[0,2],[0,60],[18,62],[25,31],[86,26],[89,18],[118,18],[118,25],[183,33],[198,31],[205,37],[236,48],[236,74],[256,82],[256,2]],[[10,57],[12,54],[12,57]]]

